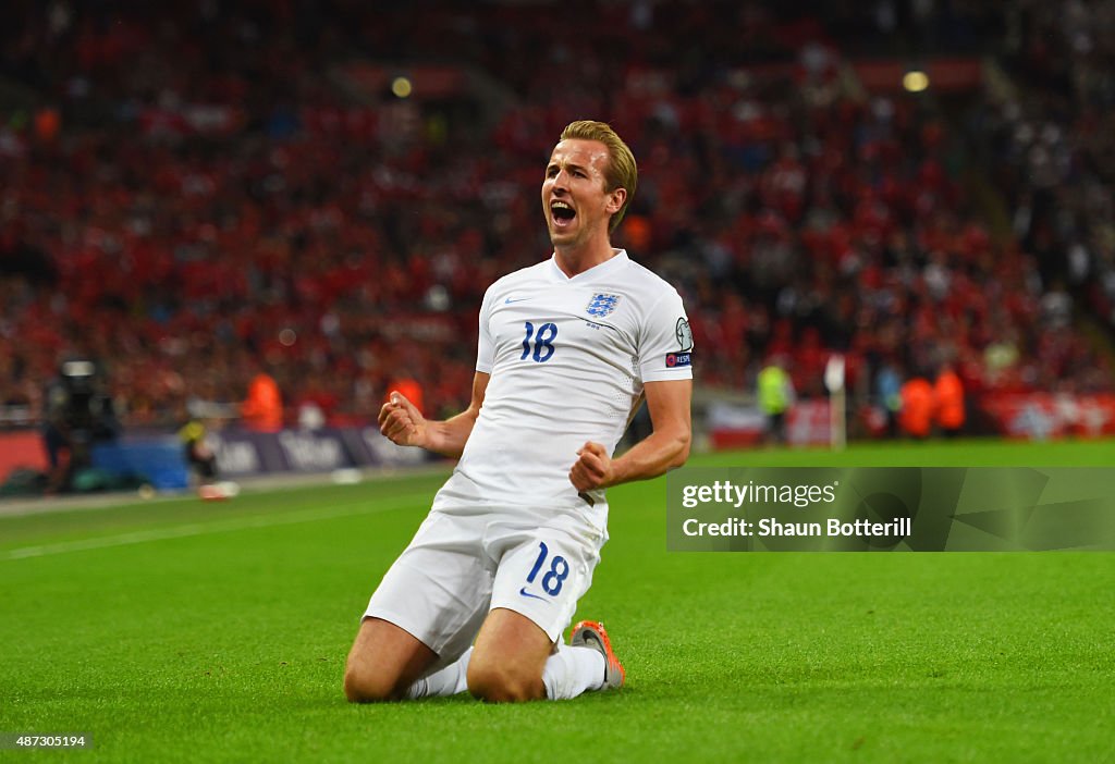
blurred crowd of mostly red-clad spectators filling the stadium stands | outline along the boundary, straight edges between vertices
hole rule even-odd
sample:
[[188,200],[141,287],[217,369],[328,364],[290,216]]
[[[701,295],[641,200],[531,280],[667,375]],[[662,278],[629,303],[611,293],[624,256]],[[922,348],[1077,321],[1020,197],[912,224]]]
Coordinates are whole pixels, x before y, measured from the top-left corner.
[[[542,169],[586,117],[639,159],[615,244],[682,292],[700,385],[777,355],[820,395],[840,352],[864,400],[946,364],[970,393],[1111,390],[1113,3],[767,6],[17,0],[0,62],[36,106],[0,125],[0,407],[86,356],[127,427],[261,371],[290,423],[368,421],[399,381],[458,411],[481,296],[547,256]],[[1017,89],[866,95],[862,25],[991,35]],[[495,95],[360,89],[365,60]]]

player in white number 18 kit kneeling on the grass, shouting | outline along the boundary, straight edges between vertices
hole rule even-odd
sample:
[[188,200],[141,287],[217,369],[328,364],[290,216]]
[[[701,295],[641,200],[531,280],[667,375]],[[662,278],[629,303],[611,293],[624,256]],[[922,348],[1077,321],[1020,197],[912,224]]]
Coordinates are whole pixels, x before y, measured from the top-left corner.
[[[553,256],[485,293],[468,409],[430,421],[395,393],[380,410],[395,443],[459,461],[368,604],[350,701],[561,699],[623,683],[600,624],[561,636],[608,539],[604,489],[689,454],[681,298],[610,242],[637,179],[611,127],[569,125],[542,182]],[[652,432],[612,459],[643,396]]]

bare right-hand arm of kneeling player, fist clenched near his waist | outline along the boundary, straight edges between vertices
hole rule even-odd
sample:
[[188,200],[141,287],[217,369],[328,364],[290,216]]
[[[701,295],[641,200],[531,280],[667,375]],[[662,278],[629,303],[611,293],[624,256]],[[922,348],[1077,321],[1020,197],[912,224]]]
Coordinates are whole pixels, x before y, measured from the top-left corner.
[[600,443],[585,443],[569,471],[570,482],[579,491],[589,491],[657,478],[685,464],[692,440],[689,413],[692,386],[692,380],[648,382],[647,409],[653,432],[619,459],[610,459]]

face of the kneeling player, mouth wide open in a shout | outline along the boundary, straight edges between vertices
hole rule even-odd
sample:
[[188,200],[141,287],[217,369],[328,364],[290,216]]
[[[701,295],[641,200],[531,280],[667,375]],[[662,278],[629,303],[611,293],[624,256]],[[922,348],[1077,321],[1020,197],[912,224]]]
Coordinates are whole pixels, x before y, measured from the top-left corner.
[[608,238],[608,221],[627,192],[607,190],[608,147],[571,138],[554,147],[542,182],[542,210],[554,247],[576,247],[597,236]]

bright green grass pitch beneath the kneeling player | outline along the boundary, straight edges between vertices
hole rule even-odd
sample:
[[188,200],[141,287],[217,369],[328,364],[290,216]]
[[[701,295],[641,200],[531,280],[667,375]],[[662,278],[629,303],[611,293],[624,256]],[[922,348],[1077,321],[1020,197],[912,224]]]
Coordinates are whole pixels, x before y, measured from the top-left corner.
[[[1115,444],[690,463],[1115,466]],[[668,554],[662,480],[610,492],[578,613],[622,690],[349,705],[357,619],[443,477],[0,517],[0,733],[94,742],[0,760],[1115,761],[1112,554]]]

